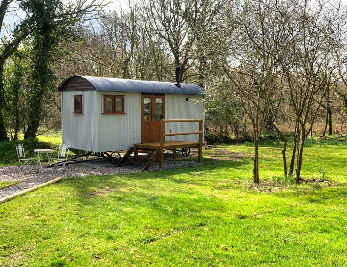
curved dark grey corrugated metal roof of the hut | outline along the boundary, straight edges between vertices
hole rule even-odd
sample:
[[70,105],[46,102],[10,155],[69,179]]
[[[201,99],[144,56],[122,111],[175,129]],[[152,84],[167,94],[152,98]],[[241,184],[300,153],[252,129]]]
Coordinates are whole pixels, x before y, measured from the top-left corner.
[[127,80],[107,77],[80,76],[75,75],[65,79],[59,86],[58,90],[65,82],[73,77],[82,77],[88,80],[96,91],[116,91],[116,92],[140,92],[156,94],[192,94],[203,95],[202,88],[195,84],[181,83],[180,86],[168,82],[153,82],[141,80]]

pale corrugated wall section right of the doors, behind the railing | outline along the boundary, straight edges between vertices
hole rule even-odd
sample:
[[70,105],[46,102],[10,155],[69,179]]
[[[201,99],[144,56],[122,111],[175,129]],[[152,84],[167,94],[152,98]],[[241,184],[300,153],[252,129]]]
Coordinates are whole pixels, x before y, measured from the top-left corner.
[[[192,100],[186,101],[188,97]],[[202,119],[205,111],[203,100],[203,95],[166,94],[165,119]],[[165,132],[196,132],[198,127],[198,122],[166,123]],[[167,136],[165,140],[197,142],[198,135]]]

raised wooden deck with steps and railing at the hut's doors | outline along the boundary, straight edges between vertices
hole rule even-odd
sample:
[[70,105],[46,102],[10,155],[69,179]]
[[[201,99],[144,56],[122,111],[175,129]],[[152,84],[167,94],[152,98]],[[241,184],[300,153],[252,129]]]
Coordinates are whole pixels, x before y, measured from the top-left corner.
[[[165,133],[165,123],[173,122],[198,122],[199,131],[198,132],[183,132],[183,133]],[[160,142],[146,142],[140,144],[134,144],[134,147],[129,148],[125,153],[122,159],[119,161],[117,167],[124,165],[125,163],[131,164],[142,164],[144,165],[143,171],[149,170],[153,165],[156,158],[159,156],[159,168],[163,167],[164,162],[164,150],[172,149],[173,155],[172,160],[176,160],[176,149],[177,148],[198,148],[199,155],[198,161],[202,161],[202,134],[203,134],[203,119],[163,119],[161,120],[161,134]],[[189,134],[198,134],[198,142],[187,142],[187,141],[165,141],[165,136],[175,136],[175,135],[189,135]],[[151,157],[138,156],[138,152],[152,154]],[[132,155],[134,153],[134,155]],[[134,161],[128,160],[130,157],[134,158]],[[148,160],[146,163],[139,162],[138,159]]]

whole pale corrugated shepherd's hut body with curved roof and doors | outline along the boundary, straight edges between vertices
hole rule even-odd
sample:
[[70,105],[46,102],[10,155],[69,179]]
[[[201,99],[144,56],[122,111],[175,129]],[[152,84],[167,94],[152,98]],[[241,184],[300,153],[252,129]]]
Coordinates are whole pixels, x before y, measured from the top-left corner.
[[[61,91],[62,142],[71,148],[117,151],[160,139],[161,119],[203,119],[200,86],[72,76]],[[197,131],[196,122],[167,123],[166,133]],[[196,142],[198,135],[167,136]]]

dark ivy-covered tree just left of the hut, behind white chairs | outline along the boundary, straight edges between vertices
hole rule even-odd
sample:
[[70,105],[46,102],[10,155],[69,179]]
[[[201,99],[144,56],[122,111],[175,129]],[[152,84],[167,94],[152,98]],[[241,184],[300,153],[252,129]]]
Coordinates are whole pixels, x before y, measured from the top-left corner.
[[65,54],[65,51],[60,50],[59,44],[66,40],[76,40],[74,25],[91,19],[91,17],[86,18],[86,15],[100,9],[96,1],[84,4],[85,2],[80,0],[68,4],[64,4],[61,0],[31,0],[20,5],[28,14],[24,21],[28,25],[35,25],[31,41],[30,107],[24,138],[36,136],[44,115],[43,101],[51,95],[55,87],[56,76],[52,72],[51,65],[55,57]]

